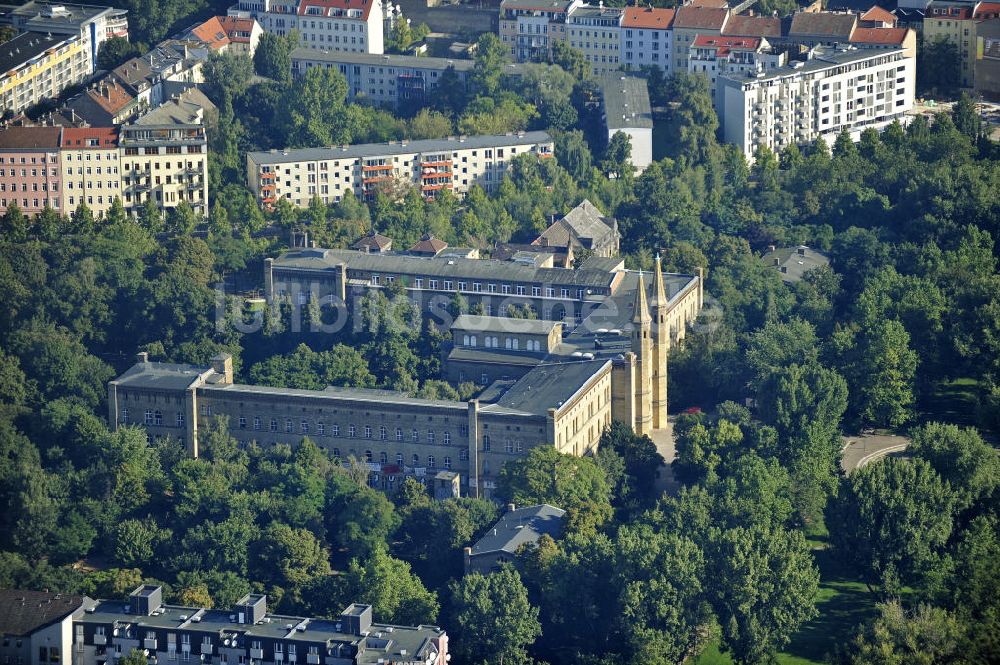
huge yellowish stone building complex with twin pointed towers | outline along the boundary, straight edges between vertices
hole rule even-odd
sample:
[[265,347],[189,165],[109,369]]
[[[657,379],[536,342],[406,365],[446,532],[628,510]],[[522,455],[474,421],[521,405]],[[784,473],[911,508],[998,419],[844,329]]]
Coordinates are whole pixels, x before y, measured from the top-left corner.
[[530,307],[548,321],[487,315],[456,322],[446,374],[469,363],[475,375],[463,379],[485,388],[468,402],[241,385],[225,356],[210,367],[143,357],[109,384],[109,420],[175,437],[197,455],[199,431],[225,416],[244,443],[294,445],[309,436],[340,459],[361,460],[370,484],[385,491],[407,476],[431,484],[443,473],[462,494],[491,497],[503,465],[535,446],[592,454],[612,419],[640,433],[666,426],[667,354],[697,316],[701,280],[657,269],[647,293],[649,278],[444,255],[294,250],[266,262],[265,297],[273,305],[316,303],[337,309],[342,321],[357,320],[369,291],[398,280],[422,313],[440,321],[456,294],[487,312]]

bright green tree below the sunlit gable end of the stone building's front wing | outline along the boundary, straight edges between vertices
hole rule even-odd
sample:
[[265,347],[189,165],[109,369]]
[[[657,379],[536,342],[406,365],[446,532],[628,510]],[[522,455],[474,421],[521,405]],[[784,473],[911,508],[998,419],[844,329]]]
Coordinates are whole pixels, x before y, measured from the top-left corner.
[[508,462],[500,471],[497,491],[516,505],[562,508],[573,531],[592,532],[611,517],[611,488],[600,467],[553,446],[533,448],[524,459]]

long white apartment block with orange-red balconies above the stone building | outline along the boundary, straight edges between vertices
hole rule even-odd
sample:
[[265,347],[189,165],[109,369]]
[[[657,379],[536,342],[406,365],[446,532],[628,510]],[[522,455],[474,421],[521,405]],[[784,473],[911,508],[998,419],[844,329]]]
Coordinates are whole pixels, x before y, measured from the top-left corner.
[[352,192],[371,200],[393,184],[409,184],[426,198],[443,189],[465,193],[473,185],[490,190],[518,155],[553,156],[546,132],[499,136],[393,141],[330,148],[247,153],[247,183],[261,205],[279,198],[304,207],[318,197],[335,203]]

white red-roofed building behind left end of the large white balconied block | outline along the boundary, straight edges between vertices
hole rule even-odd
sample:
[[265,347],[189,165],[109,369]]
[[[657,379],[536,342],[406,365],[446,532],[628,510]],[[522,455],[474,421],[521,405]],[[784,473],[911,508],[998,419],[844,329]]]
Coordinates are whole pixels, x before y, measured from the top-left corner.
[[688,72],[708,79],[712,104],[721,118],[723,88],[720,76],[746,76],[770,71],[784,66],[787,60],[787,53],[772,51],[768,41],[761,37],[698,35],[691,42]]

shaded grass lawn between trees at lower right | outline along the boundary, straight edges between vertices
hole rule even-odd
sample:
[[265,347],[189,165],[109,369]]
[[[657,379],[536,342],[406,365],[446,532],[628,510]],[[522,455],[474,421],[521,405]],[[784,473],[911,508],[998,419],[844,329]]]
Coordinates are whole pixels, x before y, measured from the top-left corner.
[[[825,534],[810,534],[810,541],[822,541]],[[875,600],[864,584],[851,577],[828,549],[813,550],[820,570],[816,597],[819,616],[804,625],[791,643],[778,654],[781,665],[821,665],[826,654],[848,642],[856,626],[875,611]],[[709,644],[693,665],[732,665],[732,659]]]

